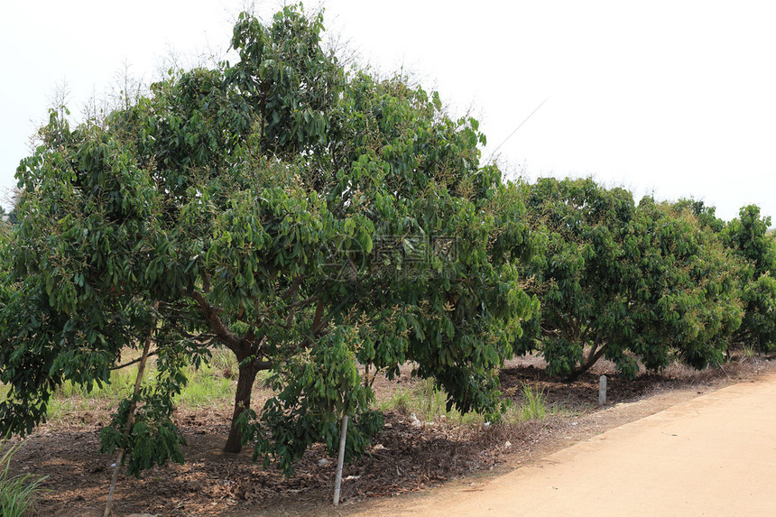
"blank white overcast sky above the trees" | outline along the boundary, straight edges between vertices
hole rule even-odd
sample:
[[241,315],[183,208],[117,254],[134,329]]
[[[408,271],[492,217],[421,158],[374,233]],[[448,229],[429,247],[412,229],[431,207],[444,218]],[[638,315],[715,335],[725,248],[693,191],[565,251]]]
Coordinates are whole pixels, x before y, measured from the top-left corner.
[[[0,18],[0,190],[14,186],[28,136],[63,82],[78,115],[125,62],[149,81],[171,50],[221,56],[244,2],[8,4]],[[277,5],[259,4],[257,13],[269,19]],[[592,175],[637,200],[693,196],[725,219],[750,203],[776,217],[776,3],[325,5],[328,32],[364,62],[386,74],[403,66],[454,113],[470,108],[488,137],[485,158],[550,96],[500,149],[506,171],[530,180]]]

